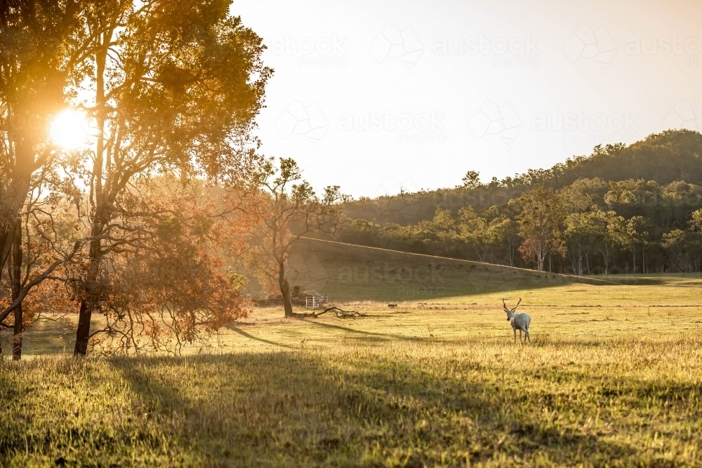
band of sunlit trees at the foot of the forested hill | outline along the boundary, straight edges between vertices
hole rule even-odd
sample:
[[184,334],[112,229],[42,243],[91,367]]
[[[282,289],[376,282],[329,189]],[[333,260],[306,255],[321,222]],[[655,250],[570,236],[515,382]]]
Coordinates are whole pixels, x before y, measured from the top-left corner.
[[701,208],[702,185],[684,180],[581,178],[481,209],[439,206],[415,224],[349,219],[340,239],[567,274],[700,272]]

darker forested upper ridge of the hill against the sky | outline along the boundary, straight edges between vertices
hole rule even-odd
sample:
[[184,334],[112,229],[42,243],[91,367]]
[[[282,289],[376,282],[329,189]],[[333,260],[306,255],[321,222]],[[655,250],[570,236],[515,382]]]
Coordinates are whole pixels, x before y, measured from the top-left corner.
[[352,220],[413,225],[431,220],[437,207],[458,210],[466,206],[479,209],[501,205],[536,184],[561,189],[578,179],[600,178],[605,182],[654,181],[661,186],[681,180],[702,185],[702,135],[696,131],[669,130],[629,146],[597,145],[590,156],[574,156],[552,168],[530,169],[513,178],[493,178],[483,184],[477,175],[468,171],[463,184],[454,188],[358,199],[346,203],[343,210]]

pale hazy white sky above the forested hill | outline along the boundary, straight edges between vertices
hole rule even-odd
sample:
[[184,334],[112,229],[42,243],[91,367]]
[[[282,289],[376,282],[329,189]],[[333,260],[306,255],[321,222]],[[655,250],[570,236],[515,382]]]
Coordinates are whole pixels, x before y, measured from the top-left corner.
[[235,0],[275,70],[263,152],[354,196],[702,129],[702,1]]

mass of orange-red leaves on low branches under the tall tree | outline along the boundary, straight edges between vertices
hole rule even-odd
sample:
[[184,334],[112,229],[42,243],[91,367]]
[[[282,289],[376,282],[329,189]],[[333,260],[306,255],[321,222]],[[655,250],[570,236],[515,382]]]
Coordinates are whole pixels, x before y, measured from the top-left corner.
[[133,211],[115,228],[138,239],[112,250],[100,275],[111,337],[100,346],[179,352],[249,312],[245,279],[227,276],[223,258],[242,242],[240,229],[196,183],[160,178],[138,188],[128,203]]

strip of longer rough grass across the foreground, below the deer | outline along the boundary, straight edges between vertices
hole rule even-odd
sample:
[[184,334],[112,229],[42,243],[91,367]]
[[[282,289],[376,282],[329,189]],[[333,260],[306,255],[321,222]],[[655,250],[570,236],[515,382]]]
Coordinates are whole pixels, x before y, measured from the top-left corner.
[[426,340],[0,374],[4,466],[701,464],[701,342]]

